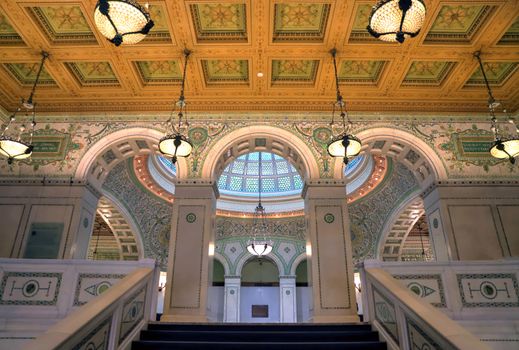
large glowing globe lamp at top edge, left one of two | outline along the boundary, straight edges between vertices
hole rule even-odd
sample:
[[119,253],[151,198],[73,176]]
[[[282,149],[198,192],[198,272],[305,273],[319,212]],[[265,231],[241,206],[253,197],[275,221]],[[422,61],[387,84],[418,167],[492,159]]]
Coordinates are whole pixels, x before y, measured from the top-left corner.
[[146,8],[133,0],[99,0],[94,21],[115,46],[137,44],[154,26]]

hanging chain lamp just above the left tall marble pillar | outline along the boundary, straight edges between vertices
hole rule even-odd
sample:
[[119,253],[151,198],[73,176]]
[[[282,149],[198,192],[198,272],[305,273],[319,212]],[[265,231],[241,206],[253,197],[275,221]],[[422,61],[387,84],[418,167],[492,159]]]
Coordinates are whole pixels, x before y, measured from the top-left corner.
[[[182,128],[189,125],[187,122],[183,123],[182,118],[185,114],[186,108],[186,100],[184,97],[184,87],[186,83],[186,69],[187,62],[189,59],[189,55],[191,51],[185,49],[184,50],[184,73],[182,76],[182,86],[180,88],[180,97],[176,102],[176,106],[179,108],[178,116],[178,124],[175,128],[173,123],[173,113],[170,115],[168,120],[168,130],[166,131],[166,136],[160,139],[159,141],[159,151],[171,158],[171,162],[175,164],[177,162],[178,157],[189,157],[191,151],[193,150],[193,145],[189,142],[187,136],[182,134]],[[186,133],[187,134],[187,133]]]

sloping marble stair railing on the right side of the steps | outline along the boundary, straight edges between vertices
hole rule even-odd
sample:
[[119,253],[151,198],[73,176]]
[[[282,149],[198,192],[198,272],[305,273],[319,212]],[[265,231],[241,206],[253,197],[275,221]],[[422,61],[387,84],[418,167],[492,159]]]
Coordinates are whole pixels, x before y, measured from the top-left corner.
[[420,300],[388,272],[360,268],[364,321],[381,333],[388,349],[489,350],[472,333]]

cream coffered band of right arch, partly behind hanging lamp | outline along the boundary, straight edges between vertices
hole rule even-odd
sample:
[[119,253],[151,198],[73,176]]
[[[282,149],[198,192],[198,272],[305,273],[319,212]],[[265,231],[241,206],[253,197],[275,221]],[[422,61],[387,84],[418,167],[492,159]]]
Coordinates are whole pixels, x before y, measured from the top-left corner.
[[[445,165],[434,149],[407,131],[372,128],[359,132],[357,137],[363,143],[361,153],[393,157],[413,172],[422,188],[448,177]],[[342,162],[335,160],[335,177],[343,176],[342,167]]]

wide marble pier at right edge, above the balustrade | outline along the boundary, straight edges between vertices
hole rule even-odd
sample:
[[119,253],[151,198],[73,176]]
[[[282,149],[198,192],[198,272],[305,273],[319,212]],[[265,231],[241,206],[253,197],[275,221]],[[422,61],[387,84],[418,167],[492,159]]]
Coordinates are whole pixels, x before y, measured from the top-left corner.
[[438,261],[519,257],[519,181],[443,181],[422,196]]

